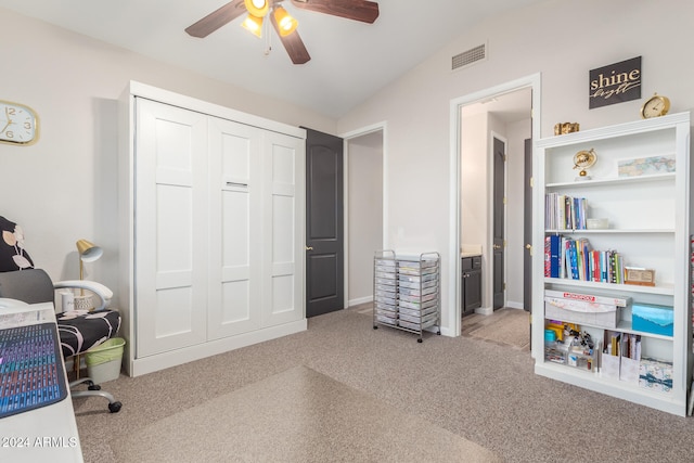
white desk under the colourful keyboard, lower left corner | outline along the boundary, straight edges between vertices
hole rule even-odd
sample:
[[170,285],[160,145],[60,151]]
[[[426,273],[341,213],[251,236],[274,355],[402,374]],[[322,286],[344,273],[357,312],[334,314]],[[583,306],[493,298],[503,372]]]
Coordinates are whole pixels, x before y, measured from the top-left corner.
[[[14,317],[4,317],[15,314]],[[55,322],[53,305],[0,308],[2,321],[14,326]],[[61,357],[62,359],[62,357]],[[65,378],[67,382],[67,378]],[[0,419],[0,461],[16,463],[82,462],[77,422],[69,396],[60,402]]]

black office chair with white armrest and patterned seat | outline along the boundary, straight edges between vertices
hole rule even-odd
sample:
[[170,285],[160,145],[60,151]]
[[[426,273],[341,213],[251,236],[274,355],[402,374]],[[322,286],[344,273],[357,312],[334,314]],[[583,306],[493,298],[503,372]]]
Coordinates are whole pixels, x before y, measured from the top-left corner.
[[[106,307],[113,293],[106,286],[88,280],[70,280],[53,284],[50,276],[40,269],[24,269],[0,272],[0,306],[14,304],[40,304],[55,300],[55,290],[82,288],[92,292],[100,299],[97,309],[89,312],[62,312],[55,316],[61,348],[64,358],[74,358],[79,369],[79,355],[99,346],[116,335],[120,327],[120,314]],[[0,309],[1,310],[1,309]],[[74,390],[80,384],[87,384],[88,390]],[[89,377],[69,383],[70,395],[76,397],[100,396],[108,400],[108,410],[117,413],[121,403],[113,395],[100,390]]]

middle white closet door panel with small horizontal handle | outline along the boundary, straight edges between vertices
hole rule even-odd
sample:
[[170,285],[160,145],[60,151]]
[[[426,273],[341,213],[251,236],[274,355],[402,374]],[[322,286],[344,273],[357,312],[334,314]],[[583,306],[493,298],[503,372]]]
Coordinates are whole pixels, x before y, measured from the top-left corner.
[[260,327],[259,130],[210,118],[209,338]]

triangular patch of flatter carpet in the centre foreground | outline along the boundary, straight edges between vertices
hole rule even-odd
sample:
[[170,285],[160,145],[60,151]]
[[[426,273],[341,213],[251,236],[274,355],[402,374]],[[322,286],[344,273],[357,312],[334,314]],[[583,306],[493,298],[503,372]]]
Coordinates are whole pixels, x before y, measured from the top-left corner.
[[112,448],[119,461],[141,463],[501,461],[306,366],[156,421]]

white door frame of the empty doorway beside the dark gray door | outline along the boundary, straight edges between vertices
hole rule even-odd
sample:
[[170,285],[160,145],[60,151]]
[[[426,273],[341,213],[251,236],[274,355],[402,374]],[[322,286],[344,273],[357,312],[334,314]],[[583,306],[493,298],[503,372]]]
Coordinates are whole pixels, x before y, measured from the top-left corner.
[[[365,126],[359,129],[355,129],[352,131],[338,134],[344,140],[344,150],[343,150],[343,185],[344,185],[344,220],[343,223],[345,226],[344,237],[345,237],[345,308],[348,307],[349,299],[349,141],[352,139],[357,139],[359,137],[367,136],[369,133],[381,131],[383,134],[383,179],[382,179],[382,197],[383,197],[383,236],[382,236],[382,245],[383,249],[388,247],[388,196],[386,195],[386,191],[388,189],[388,176],[386,171],[386,166],[388,165],[388,127],[387,123],[381,121],[373,124],[371,126]],[[378,249],[374,249],[378,250]]]

